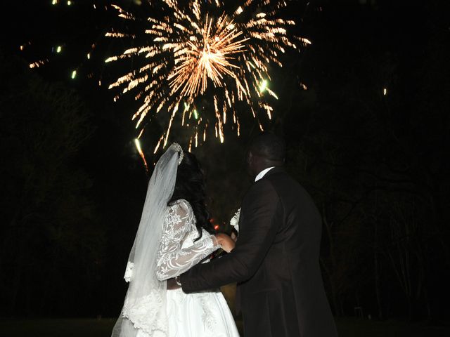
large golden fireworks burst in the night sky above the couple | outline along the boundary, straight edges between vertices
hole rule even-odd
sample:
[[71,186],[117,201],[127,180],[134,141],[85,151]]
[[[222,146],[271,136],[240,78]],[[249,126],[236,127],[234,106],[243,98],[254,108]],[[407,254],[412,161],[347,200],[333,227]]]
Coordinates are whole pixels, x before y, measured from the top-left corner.
[[[247,0],[230,9],[219,0],[153,1],[152,8],[164,15],[146,18],[145,42],[106,60],[141,58],[141,67],[109,88],[122,88],[122,94],[136,91],[141,106],[132,119],[140,135],[145,121],[169,114],[155,152],[167,144],[176,116],[180,116],[181,126],[191,129],[190,146],[197,146],[199,138],[205,141],[209,126],[214,126],[215,136],[223,143],[228,115],[239,134],[238,102],[245,103],[260,128],[259,114],[266,113],[271,119],[273,108],[267,95],[278,97],[269,88],[269,65],[281,67],[286,48],[300,51],[300,46],[310,44],[307,39],[288,36],[287,29],[295,21],[279,17],[287,4],[272,2]],[[131,23],[139,20],[120,6],[113,7],[120,18]],[[108,32],[106,36],[141,41],[139,32]],[[213,111],[200,103],[205,98],[214,103]]]

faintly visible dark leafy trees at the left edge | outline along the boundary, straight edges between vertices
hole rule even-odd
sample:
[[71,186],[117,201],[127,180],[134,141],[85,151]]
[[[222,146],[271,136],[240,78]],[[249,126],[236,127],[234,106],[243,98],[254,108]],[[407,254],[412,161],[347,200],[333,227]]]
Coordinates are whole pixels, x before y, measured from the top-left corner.
[[89,296],[105,245],[92,181],[73,165],[94,129],[75,92],[0,57],[1,310],[53,312]]

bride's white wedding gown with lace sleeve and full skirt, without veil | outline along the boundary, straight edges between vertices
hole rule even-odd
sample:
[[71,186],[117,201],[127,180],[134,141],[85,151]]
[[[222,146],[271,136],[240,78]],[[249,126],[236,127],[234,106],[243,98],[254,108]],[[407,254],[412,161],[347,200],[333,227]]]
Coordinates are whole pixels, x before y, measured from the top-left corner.
[[[218,248],[215,237],[206,230],[194,242],[197,237],[191,204],[181,199],[169,206],[158,251],[158,279],[181,275],[200,261],[208,262],[207,257]],[[239,337],[233,315],[219,289],[189,294],[182,289],[168,290],[167,318],[168,337]],[[148,334],[139,331],[136,337],[148,337]]]

